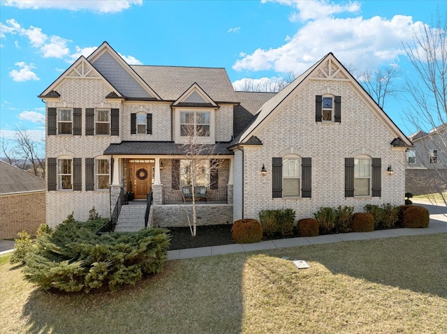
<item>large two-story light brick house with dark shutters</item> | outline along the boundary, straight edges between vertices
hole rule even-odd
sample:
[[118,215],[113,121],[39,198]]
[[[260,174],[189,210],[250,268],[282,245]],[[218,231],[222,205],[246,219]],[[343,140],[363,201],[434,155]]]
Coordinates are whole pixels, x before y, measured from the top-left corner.
[[187,130],[208,150],[199,224],[267,208],[307,218],[321,206],[404,203],[411,142],[333,54],[279,93],[248,93],[224,68],[129,66],[103,43],[39,98],[50,226],[73,211],[85,220],[93,206],[110,217],[129,191],[136,200],[152,191],[154,225],[186,225]]

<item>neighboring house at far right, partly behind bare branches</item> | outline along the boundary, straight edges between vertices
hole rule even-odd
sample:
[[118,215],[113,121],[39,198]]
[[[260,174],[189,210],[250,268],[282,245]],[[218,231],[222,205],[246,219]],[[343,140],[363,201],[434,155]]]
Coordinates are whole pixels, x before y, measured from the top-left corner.
[[406,151],[405,190],[413,195],[447,191],[447,123],[409,137]]

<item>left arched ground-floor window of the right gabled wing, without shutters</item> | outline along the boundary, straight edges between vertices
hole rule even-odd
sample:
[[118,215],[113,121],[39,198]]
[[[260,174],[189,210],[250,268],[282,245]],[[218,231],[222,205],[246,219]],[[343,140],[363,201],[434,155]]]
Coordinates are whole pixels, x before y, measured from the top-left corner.
[[282,158],[282,195],[300,197],[301,158],[298,155],[286,155]]

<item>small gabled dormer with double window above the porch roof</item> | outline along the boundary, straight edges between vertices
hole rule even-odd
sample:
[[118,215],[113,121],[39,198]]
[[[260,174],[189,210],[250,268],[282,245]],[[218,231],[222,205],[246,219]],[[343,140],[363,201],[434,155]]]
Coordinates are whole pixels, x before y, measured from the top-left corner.
[[175,143],[191,142],[214,144],[216,142],[216,110],[219,105],[194,82],[171,105],[175,120]]

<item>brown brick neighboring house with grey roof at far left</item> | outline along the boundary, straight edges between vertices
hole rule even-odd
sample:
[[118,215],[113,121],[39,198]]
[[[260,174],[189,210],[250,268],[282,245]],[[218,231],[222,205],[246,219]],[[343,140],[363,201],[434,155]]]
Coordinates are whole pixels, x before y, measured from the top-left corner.
[[0,238],[36,235],[45,223],[45,181],[0,161]]

